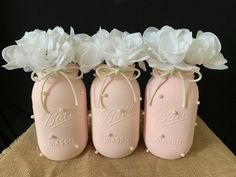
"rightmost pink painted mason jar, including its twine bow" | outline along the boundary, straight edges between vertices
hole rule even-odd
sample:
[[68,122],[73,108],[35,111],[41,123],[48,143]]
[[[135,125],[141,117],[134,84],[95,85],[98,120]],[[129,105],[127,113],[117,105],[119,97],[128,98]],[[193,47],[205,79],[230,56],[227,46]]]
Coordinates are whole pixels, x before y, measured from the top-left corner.
[[145,93],[144,141],[147,151],[164,159],[184,157],[193,143],[198,86],[193,73],[153,76]]

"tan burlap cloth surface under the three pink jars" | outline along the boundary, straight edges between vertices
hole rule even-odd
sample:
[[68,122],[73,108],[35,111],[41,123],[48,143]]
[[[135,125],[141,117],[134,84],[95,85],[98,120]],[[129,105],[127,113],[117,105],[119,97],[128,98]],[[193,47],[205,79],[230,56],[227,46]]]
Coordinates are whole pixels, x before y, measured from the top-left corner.
[[91,138],[77,158],[54,162],[39,156],[35,126],[0,154],[0,177],[236,177],[232,152],[197,119],[194,143],[185,158],[163,160],[145,152],[141,136],[138,148],[122,159],[96,155]]

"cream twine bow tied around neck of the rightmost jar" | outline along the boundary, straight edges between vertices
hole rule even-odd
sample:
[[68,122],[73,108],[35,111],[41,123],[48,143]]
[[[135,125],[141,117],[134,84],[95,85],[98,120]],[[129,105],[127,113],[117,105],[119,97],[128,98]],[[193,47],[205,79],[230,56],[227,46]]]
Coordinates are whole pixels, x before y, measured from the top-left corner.
[[187,95],[186,95],[186,88],[185,88],[185,80],[189,81],[189,82],[198,82],[202,79],[202,74],[199,72],[199,71],[190,71],[190,73],[193,73],[193,74],[197,74],[198,77],[196,79],[187,79],[187,78],[184,78],[183,76],[183,73],[178,70],[178,69],[173,69],[173,70],[168,70],[168,71],[160,71],[156,68],[153,69],[153,72],[152,72],[152,75],[154,77],[160,77],[162,78],[161,82],[159,83],[159,85],[157,85],[156,89],[154,90],[152,96],[151,96],[151,99],[150,99],[150,102],[149,102],[149,105],[152,106],[152,102],[153,102],[153,99],[158,91],[158,89],[168,80],[169,76],[177,76],[181,79],[182,81],[182,90],[183,90],[183,102],[182,102],[182,107],[184,109],[187,108],[187,105],[186,105],[186,100],[187,100]]

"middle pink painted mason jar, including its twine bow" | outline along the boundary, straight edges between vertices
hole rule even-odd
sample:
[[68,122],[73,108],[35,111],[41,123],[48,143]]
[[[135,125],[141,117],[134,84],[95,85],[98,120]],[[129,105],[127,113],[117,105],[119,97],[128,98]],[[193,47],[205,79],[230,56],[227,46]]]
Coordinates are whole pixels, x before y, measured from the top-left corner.
[[96,70],[90,92],[95,153],[121,158],[137,147],[140,89],[134,70],[137,69],[127,71],[107,66]]

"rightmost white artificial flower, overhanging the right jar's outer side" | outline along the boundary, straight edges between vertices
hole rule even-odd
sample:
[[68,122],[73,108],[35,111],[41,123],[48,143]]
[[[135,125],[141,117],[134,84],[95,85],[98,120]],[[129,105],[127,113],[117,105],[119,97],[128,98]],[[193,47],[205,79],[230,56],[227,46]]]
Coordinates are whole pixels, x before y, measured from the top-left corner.
[[217,36],[211,32],[199,31],[191,45],[185,61],[190,64],[198,64],[209,69],[227,69],[227,60],[220,53],[221,44]]

